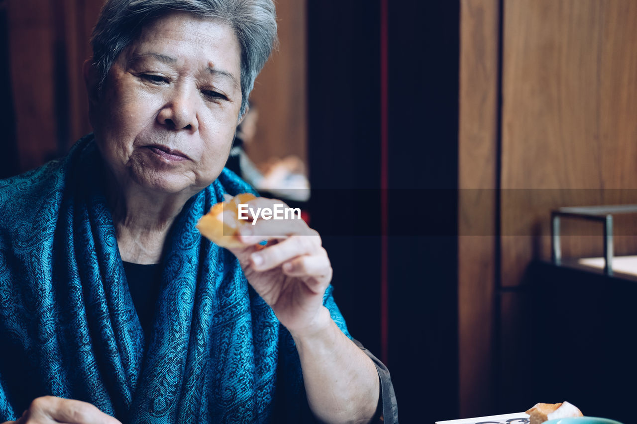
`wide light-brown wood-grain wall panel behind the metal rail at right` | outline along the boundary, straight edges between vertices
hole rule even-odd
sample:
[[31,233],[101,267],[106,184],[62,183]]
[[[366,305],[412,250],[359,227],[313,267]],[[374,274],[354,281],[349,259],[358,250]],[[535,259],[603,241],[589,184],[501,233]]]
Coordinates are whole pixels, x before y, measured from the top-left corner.
[[[637,202],[637,2],[504,5],[501,272],[515,286],[550,257],[550,209]],[[635,237],[616,250],[636,253]]]

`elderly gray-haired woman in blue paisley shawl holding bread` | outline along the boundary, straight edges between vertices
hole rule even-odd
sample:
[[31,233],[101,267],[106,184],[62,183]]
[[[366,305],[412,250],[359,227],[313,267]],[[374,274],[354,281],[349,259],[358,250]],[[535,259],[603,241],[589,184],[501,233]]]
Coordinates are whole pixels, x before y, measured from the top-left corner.
[[94,135],[0,181],[0,421],[396,420],[316,232],[261,220],[225,250],[195,228],[250,190],[224,163],[275,39],[271,0],[106,3]]

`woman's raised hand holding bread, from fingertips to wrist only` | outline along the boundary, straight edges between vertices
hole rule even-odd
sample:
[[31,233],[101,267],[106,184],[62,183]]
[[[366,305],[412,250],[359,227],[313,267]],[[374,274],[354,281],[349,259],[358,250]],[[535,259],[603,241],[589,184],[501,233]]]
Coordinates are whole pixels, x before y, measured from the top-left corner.
[[[260,197],[248,206],[274,210],[281,201]],[[321,314],[323,295],[332,279],[327,252],[318,232],[300,218],[265,220],[241,227],[240,240],[247,248],[230,249],[239,259],[250,285],[265,300],[278,320],[291,332],[312,331],[325,324]],[[267,240],[268,245],[258,243]]]

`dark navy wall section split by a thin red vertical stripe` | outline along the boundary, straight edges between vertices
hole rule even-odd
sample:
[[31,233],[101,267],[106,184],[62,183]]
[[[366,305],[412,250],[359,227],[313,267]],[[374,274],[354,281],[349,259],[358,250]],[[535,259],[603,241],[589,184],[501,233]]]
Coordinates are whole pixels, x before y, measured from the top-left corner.
[[[379,1],[308,7],[312,223],[333,234],[339,224],[329,219],[329,209],[339,204],[327,198],[344,195],[357,199],[358,208],[334,219],[369,234],[324,236],[333,258],[334,296],[352,334],[383,352],[380,323],[369,321],[379,316],[383,301],[380,169],[387,160],[386,359],[399,416],[404,423],[457,418],[457,204],[453,195],[445,196],[445,204],[429,204],[419,190],[457,187],[459,3],[390,1],[384,16]],[[381,19],[388,24],[386,158]],[[443,225],[441,234],[448,236],[424,235],[429,225]]]

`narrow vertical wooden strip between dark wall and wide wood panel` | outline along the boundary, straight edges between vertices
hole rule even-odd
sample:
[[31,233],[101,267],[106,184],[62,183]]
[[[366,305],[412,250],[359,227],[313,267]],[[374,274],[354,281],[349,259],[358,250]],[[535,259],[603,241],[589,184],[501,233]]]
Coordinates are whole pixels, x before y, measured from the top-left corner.
[[493,413],[497,184],[497,0],[461,1],[460,416]]

